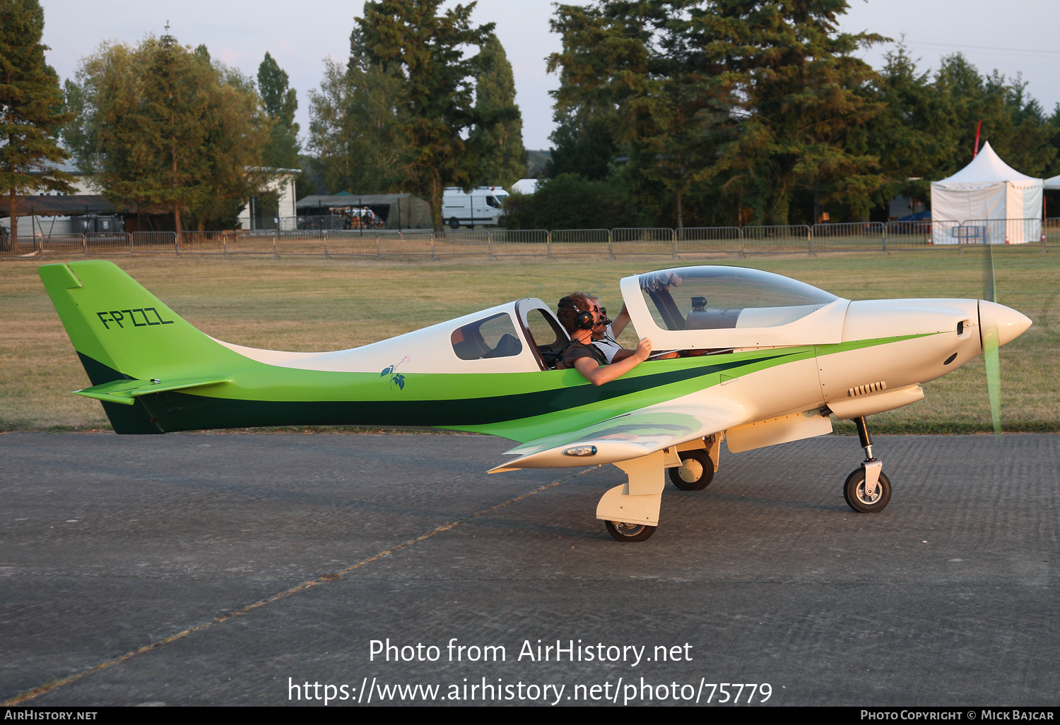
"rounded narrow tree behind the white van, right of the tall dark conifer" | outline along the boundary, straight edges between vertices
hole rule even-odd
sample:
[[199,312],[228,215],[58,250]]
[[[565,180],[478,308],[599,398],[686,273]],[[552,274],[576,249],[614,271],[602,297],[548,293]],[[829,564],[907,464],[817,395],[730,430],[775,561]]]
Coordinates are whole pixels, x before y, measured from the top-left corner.
[[496,35],[490,34],[479,57],[475,110],[481,121],[469,138],[469,145],[480,159],[477,183],[509,187],[523,178],[527,168],[515,77]]

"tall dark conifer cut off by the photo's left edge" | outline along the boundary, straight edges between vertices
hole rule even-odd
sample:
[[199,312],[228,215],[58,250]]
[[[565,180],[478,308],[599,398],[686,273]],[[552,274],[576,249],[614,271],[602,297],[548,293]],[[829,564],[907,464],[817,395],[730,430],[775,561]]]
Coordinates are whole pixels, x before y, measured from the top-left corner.
[[70,194],[70,177],[48,164],[70,158],[57,140],[71,115],[58,76],[45,62],[45,12],[37,0],[0,1],[0,194],[18,238],[18,197],[41,188]]

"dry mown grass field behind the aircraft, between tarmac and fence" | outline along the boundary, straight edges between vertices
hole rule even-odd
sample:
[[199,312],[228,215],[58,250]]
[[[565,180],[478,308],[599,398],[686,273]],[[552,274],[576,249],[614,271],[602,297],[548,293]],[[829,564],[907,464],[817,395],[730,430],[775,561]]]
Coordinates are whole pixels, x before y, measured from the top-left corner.
[[[599,294],[614,314],[618,280],[701,260],[620,259],[369,261],[264,257],[114,257],[175,311],[215,338],[285,350],[341,349],[523,296],[554,304],[573,290]],[[0,431],[109,428],[100,404],[70,391],[88,385],[37,277],[38,261],[0,262]],[[978,297],[982,253],[955,250],[731,256],[707,264],[777,272],[852,300]],[[1060,431],[1060,254],[995,253],[999,301],[1034,322],[1002,348],[1006,431]],[[628,332],[623,342],[634,341]],[[873,417],[879,433],[990,430],[982,358],[924,385],[922,402]],[[838,432],[852,432],[849,424]]]

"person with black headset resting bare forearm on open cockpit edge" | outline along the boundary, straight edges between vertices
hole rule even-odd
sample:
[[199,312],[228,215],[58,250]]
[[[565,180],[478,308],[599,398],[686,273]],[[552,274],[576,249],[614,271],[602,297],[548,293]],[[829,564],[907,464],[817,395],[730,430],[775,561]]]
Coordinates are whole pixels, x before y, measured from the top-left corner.
[[593,344],[593,330],[605,320],[600,312],[600,306],[581,292],[575,292],[560,300],[556,315],[560,323],[567,328],[571,342],[564,348],[556,362],[558,369],[576,368],[594,385],[602,385],[615,378],[629,373],[648,359],[652,354],[652,342],[647,338],[637,345],[631,355],[607,364],[607,357]]

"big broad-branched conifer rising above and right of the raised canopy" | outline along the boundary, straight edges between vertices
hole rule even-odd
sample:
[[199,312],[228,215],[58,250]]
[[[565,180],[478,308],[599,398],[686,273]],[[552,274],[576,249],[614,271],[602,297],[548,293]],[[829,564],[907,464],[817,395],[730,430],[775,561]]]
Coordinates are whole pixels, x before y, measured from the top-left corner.
[[[858,90],[876,76],[853,56],[886,38],[838,32],[846,0],[710,0],[685,34],[719,70],[739,117],[719,171],[764,182],[765,221],[789,223],[792,196],[811,193],[867,217],[885,179],[865,147],[864,125],[883,105]],[[816,221],[816,219],[814,219]]]

